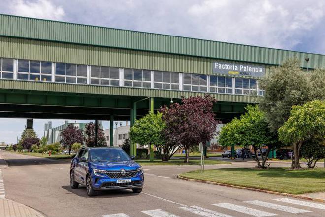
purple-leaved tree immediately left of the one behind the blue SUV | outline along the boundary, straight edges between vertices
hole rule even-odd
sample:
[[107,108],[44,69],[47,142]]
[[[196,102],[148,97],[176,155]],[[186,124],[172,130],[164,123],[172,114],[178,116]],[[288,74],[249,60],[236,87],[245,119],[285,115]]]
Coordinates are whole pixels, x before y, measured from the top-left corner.
[[61,131],[61,141],[60,143],[65,148],[69,149],[69,155],[71,153],[72,144],[81,143],[83,144],[83,133],[82,130],[73,124],[68,124],[67,127]]

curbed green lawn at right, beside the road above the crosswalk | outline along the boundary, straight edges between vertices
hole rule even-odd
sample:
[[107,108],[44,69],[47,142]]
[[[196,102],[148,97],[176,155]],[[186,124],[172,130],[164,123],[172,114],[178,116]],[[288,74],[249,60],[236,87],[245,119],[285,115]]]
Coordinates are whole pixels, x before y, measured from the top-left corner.
[[196,170],[180,175],[190,179],[290,194],[325,191],[325,169],[289,170],[274,168],[257,170],[251,168],[227,168],[210,169],[203,173]]

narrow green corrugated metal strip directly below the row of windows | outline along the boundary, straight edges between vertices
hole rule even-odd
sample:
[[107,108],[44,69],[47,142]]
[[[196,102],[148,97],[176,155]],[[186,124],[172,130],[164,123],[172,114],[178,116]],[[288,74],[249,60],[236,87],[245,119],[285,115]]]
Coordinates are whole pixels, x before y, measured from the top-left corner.
[[[142,96],[142,97],[158,97],[158,98],[181,98],[190,96],[204,96],[206,93],[172,91],[158,89],[142,89],[128,87],[103,87],[94,85],[78,85],[78,84],[61,84],[61,83],[41,83],[31,81],[18,80],[1,80],[1,89],[28,90],[28,91],[50,91],[65,93],[81,93],[81,94],[101,94],[101,95],[122,95],[122,96]],[[243,102],[258,103],[260,98],[244,95],[230,94],[213,94],[218,101],[225,102]],[[3,99],[0,99],[3,100]]]

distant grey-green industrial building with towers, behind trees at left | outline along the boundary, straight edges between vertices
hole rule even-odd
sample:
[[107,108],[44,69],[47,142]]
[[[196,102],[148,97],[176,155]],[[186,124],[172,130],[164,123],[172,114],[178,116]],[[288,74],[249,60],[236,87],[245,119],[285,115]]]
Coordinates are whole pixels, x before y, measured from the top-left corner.
[[[69,123],[67,120],[65,120],[65,123],[61,126],[52,128],[52,122],[49,121],[48,124],[44,124],[44,137],[47,138],[47,143],[56,143],[56,142],[60,142],[61,140],[61,131],[66,129],[66,127],[72,124],[76,127],[78,127],[79,129],[82,129],[83,131],[85,131],[86,129],[86,123]],[[102,126],[102,122],[99,121],[99,126]]]

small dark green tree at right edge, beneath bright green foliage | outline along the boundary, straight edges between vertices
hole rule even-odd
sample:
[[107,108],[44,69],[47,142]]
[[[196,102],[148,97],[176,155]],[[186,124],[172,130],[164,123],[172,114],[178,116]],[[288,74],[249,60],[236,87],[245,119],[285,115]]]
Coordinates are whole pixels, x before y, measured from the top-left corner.
[[308,168],[314,168],[317,161],[325,158],[324,141],[319,138],[308,140],[302,145],[300,155],[306,159]]

